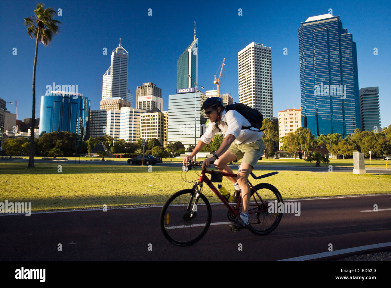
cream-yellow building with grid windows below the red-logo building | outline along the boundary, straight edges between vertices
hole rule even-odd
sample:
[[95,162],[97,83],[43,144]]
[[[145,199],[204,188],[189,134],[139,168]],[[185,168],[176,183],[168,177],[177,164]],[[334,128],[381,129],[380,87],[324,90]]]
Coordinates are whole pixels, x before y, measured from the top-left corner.
[[156,138],[167,147],[169,112],[149,112],[140,116],[140,137],[145,140]]

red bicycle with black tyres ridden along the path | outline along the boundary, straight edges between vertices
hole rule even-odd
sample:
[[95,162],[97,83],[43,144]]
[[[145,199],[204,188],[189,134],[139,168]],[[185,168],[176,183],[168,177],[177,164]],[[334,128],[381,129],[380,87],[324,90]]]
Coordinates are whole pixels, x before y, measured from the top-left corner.
[[[202,163],[202,161],[188,161],[188,165],[183,166],[182,170],[183,172],[188,172],[193,168],[202,166]],[[211,179],[206,177],[206,174],[212,174]],[[237,203],[228,203],[224,196],[222,196],[219,190],[213,185],[213,174],[219,175],[217,176],[217,181],[214,182],[221,182],[222,176],[237,177],[237,174],[234,173],[203,169],[201,175],[199,175],[199,180],[194,183],[192,189],[179,190],[164,204],[160,212],[160,226],[163,235],[171,243],[178,246],[193,245],[201,240],[208,231],[212,221],[212,208],[206,196],[201,193],[203,182],[205,182],[214,194],[219,197],[222,203],[227,206],[229,221],[235,221],[240,213],[241,195],[239,195]],[[253,176],[254,179],[261,179],[275,174],[278,174],[278,172],[271,172],[258,177],[251,172],[250,175]],[[282,203],[281,194],[277,188],[271,184],[259,183],[253,186],[250,181],[248,181],[248,183],[251,191],[248,208],[248,229],[255,235],[267,235],[277,228],[282,218],[282,213],[280,212],[271,211],[270,213],[268,204],[274,201]],[[253,200],[251,201],[251,199]],[[235,232],[235,230],[232,230],[232,232]]]

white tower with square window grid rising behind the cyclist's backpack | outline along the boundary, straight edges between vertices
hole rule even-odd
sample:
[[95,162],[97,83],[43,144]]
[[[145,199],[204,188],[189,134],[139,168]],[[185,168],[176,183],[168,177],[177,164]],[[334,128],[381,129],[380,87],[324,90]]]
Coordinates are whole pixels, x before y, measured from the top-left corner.
[[251,42],[238,52],[239,102],[273,120],[271,48]]

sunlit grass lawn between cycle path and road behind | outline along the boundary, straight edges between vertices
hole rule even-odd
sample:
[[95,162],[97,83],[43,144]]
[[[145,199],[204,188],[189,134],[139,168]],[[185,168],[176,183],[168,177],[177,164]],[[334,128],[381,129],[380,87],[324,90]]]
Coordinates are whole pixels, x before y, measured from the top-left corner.
[[[0,202],[31,202],[32,211],[108,208],[141,204],[163,204],[174,192],[191,188],[182,180],[177,167],[148,167],[63,163],[36,163],[27,169],[25,163],[0,163]],[[277,169],[276,169],[277,170]],[[234,170],[236,172],[237,170]],[[269,171],[267,171],[269,172]],[[263,172],[256,170],[255,174]],[[185,172],[183,172],[183,175]],[[194,170],[187,173],[189,181],[199,177]],[[251,180],[250,180],[251,181]],[[276,186],[283,199],[390,193],[391,175],[350,172],[280,171],[270,178],[253,180],[253,185],[268,182]],[[215,183],[217,186],[218,183]],[[227,179],[222,185],[231,191]],[[219,199],[205,185],[203,193],[210,202]]]

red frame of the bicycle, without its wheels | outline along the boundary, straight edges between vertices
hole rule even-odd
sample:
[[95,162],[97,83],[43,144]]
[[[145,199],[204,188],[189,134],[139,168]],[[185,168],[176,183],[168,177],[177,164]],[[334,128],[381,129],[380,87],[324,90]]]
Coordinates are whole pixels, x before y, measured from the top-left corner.
[[[234,174],[234,173],[227,173],[227,172],[221,172],[222,173],[222,176],[228,176],[228,177],[233,177],[233,178],[236,178],[238,174]],[[206,177],[206,174],[212,174],[212,170],[202,170],[201,172],[201,175],[200,175],[200,178],[199,178],[199,181],[197,183],[195,183],[193,185],[193,190],[195,192],[195,196],[196,196],[196,201],[195,201],[195,205],[197,205],[197,202],[198,202],[198,193],[201,192],[201,188],[202,188],[202,183],[205,182],[206,185],[209,186],[209,188],[213,191],[214,194],[216,194],[217,197],[219,197],[219,199],[221,200],[221,202],[228,208],[228,210],[230,210],[230,212],[233,214],[233,216],[237,216],[237,214],[239,213],[239,207],[240,207],[240,202],[242,200],[242,196],[239,195],[239,199],[238,199],[238,202],[235,206],[235,209],[230,205],[230,204],[233,204],[233,203],[228,203],[228,201],[224,198],[224,196],[222,196],[222,194],[219,192],[219,190],[217,190],[217,188],[215,187],[215,185],[213,185],[212,181],[209,180],[208,177]],[[254,200],[255,200],[255,203],[256,205],[259,207],[260,204],[258,203],[258,201],[256,201],[256,198],[254,196],[254,193],[256,193],[256,195],[258,195],[258,193],[256,192],[256,190],[254,189],[253,185],[251,184],[250,181],[248,181],[248,184],[249,184],[249,187],[250,187],[250,195],[253,196]],[[251,190],[253,190],[253,194],[251,194]],[[190,205],[192,203],[192,200],[193,200],[193,197],[190,197],[190,201],[188,202],[188,206],[187,206],[187,211],[189,211],[190,209]],[[250,196],[251,197],[251,196]],[[248,214],[253,214],[253,213],[258,213],[258,212],[264,212],[264,211],[267,211],[267,205],[265,205],[262,197],[260,197],[258,195],[258,197],[261,199],[262,201],[262,204],[264,205],[265,209],[261,210],[261,209],[258,209],[258,210],[255,210],[255,211],[248,211]],[[194,207],[192,209],[192,214],[194,212]],[[192,216],[191,214],[191,216]]]

